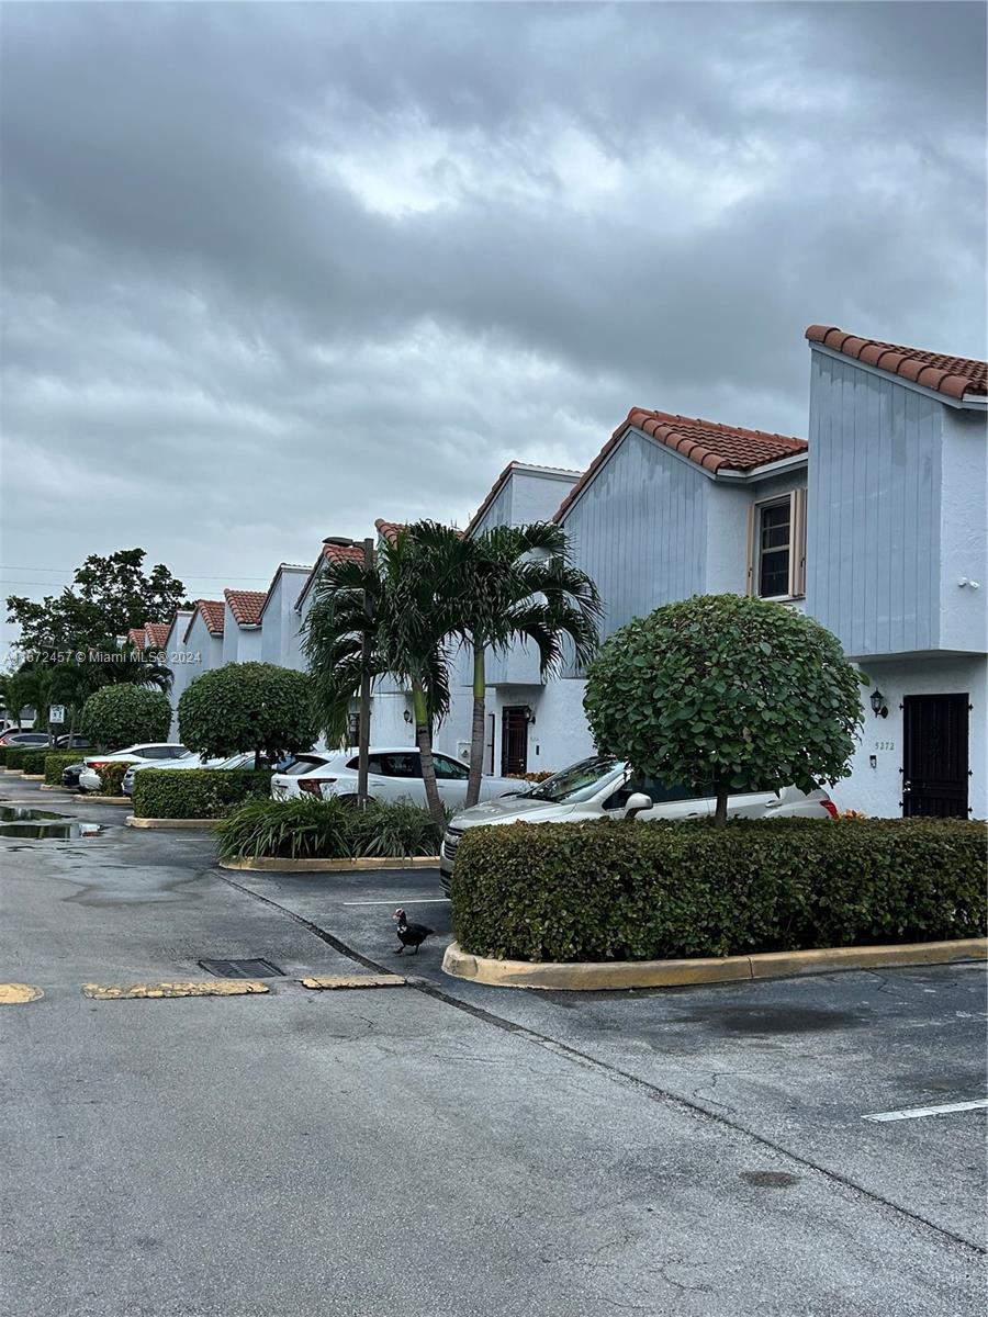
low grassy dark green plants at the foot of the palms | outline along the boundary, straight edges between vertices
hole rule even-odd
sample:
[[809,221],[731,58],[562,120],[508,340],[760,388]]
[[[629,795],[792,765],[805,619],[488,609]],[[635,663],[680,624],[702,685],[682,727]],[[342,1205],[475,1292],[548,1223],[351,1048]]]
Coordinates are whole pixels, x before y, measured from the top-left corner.
[[361,810],[307,797],[250,802],[216,835],[223,860],[436,855],[440,840],[428,810],[415,805],[375,802]]

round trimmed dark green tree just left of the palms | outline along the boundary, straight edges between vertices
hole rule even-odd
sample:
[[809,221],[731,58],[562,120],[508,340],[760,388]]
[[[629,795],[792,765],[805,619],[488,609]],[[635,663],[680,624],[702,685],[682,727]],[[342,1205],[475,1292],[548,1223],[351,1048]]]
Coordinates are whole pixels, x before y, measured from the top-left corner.
[[319,736],[310,678],[270,662],[228,662],[204,672],[178,701],[182,744],[208,759],[254,753],[274,763]]

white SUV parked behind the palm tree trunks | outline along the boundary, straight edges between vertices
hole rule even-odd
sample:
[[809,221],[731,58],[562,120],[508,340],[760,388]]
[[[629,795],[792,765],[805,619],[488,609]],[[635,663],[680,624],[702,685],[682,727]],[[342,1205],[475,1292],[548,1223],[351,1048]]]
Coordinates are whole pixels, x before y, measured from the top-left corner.
[[[299,756],[300,760],[306,756]],[[271,795],[275,801],[290,795],[319,795],[352,799],[357,795],[357,751],[340,749],[317,757],[307,772],[292,764],[288,773],[275,773]],[[466,799],[466,778],[470,769],[458,759],[435,752],[436,786],[443,803],[449,810],[462,809]],[[524,790],[526,782],[514,777],[482,777],[481,799],[486,801],[506,792]],[[371,801],[411,801],[425,806],[425,784],[422,780],[422,760],[418,745],[371,745],[368,755],[368,795]]]

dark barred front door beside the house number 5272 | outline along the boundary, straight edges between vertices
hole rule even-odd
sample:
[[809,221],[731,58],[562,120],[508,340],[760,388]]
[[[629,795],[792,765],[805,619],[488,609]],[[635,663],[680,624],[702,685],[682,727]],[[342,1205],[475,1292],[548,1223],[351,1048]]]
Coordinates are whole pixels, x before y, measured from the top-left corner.
[[902,701],[902,814],[967,818],[967,695]]

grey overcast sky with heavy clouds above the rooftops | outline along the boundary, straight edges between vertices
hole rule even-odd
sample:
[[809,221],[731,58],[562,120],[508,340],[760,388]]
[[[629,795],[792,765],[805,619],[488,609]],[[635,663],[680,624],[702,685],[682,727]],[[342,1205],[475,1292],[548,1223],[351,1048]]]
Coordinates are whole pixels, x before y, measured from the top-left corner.
[[632,406],[805,435],[814,321],[983,356],[984,16],[4,5],[3,593],[263,589]]

